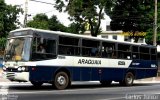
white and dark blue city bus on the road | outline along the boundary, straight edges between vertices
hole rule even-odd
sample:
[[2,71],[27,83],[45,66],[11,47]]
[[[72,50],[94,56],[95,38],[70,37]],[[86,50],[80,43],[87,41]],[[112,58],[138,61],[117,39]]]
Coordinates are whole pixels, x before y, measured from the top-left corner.
[[135,79],[155,77],[158,69],[155,46],[35,28],[9,33],[3,65],[11,81],[57,89],[74,81],[132,86]]

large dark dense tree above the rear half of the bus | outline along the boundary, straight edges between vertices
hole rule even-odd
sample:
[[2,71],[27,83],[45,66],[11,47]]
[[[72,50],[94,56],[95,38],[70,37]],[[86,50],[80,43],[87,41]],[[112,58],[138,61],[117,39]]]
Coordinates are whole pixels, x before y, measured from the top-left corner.
[[147,32],[153,28],[154,0],[116,0],[113,7],[105,11],[112,19],[111,29],[132,32],[135,42],[141,37],[137,37],[137,31]]

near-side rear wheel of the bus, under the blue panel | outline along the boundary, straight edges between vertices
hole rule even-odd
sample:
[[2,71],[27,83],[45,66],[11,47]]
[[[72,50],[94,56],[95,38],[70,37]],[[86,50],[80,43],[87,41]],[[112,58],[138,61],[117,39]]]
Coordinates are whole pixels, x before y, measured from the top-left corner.
[[134,81],[134,75],[131,72],[128,72],[123,81],[120,82],[124,86],[132,86]]

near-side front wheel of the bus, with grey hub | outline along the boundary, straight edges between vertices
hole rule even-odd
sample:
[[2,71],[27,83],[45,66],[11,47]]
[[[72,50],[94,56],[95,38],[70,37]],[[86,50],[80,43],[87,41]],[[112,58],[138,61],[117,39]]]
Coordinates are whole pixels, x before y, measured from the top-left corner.
[[54,78],[55,88],[62,90],[68,87],[69,85],[69,77],[65,72],[58,72]]

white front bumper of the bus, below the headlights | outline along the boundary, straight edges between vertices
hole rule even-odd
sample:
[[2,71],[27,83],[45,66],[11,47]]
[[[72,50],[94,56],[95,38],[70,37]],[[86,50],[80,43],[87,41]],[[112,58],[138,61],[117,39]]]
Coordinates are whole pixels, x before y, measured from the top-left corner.
[[29,72],[3,72],[3,77],[10,81],[28,82]]

